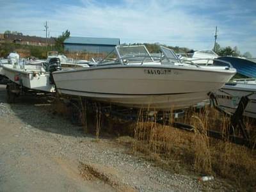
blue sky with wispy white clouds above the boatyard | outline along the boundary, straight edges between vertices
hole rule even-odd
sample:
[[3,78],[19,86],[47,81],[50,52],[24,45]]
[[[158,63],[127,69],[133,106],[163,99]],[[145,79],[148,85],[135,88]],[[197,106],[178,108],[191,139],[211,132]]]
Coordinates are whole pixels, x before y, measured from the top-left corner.
[[0,0],[0,33],[114,37],[121,43],[161,44],[212,49],[217,42],[256,57],[256,1],[156,0]]

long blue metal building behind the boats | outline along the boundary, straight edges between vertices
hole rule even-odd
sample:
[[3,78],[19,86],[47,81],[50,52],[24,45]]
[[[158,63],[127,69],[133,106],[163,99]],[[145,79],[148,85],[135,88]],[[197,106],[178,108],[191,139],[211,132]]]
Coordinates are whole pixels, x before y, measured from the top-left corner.
[[70,36],[64,41],[64,49],[65,51],[106,53],[113,51],[114,47],[119,44],[119,38]]

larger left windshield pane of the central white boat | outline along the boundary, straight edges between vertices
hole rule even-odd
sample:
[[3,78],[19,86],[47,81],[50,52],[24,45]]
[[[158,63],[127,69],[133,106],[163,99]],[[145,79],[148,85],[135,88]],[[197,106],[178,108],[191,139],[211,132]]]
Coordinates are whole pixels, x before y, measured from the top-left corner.
[[144,45],[120,46],[116,49],[119,53],[120,59],[123,60],[124,63],[141,63],[145,61],[153,61]]

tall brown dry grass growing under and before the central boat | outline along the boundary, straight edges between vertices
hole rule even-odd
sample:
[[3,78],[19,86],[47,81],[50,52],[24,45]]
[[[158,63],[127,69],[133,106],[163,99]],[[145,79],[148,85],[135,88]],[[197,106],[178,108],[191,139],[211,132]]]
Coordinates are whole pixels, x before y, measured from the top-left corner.
[[[68,112],[61,105],[58,108],[57,111]],[[223,138],[227,137],[230,119],[215,109],[207,108],[200,113],[193,110],[186,112],[180,122],[194,125],[193,132],[171,127],[169,124],[173,119],[167,125],[145,122],[141,113],[138,114],[138,121],[132,123],[122,122],[118,118],[106,118],[104,114],[100,123],[97,122],[99,117],[96,118],[95,115],[87,114],[87,119],[84,126],[86,131],[97,136],[99,129],[100,134],[112,132],[122,135],[118,142],[131,148],[132,154],[142,155],[170,172],[214,175],[229,180],[241,191],[256,189],[255,149],[207,136],[207,130],[211,129],[222,132]],[[246,120],[246,128],[256,141],[255,122],[253,124]]]

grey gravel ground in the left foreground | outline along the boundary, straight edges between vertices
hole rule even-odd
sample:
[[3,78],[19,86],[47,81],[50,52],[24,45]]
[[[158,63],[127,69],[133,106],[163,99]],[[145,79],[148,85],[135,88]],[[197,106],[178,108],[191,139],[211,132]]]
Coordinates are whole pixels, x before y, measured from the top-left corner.
[[131,156],[115,139],[84,134],[42,100],[6,103],[0,85],[0,191],[230,191]]

